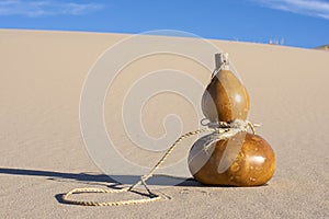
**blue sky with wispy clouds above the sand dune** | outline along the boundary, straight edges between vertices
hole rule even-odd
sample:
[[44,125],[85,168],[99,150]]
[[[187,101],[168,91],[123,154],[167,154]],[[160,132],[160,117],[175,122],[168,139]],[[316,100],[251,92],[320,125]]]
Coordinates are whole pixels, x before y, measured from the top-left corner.
[[329,0],[0,0],[0,28],[179,30],[311,48],[329,44]]

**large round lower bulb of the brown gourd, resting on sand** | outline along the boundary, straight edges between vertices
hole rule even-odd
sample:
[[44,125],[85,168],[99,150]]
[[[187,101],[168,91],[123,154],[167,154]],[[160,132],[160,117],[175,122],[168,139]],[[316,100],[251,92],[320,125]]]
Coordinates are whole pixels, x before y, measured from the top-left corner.
[[[225,172],[218,172],[223,153],[230,143],[241,143],[242,147],[236,159]],[[239,132],[230,139],[219,140],[212,146],[211,154],[204,163],[197,157],[206,157],[203,145],[194,143],[189,155],[189,168],[194,178],[207,185],[257,186],[263,185],[274,174],[275,155],[271,146],[260,136]],[[194,170],[191,170],[194,166]],[[195,171],[195,166],[200,170]]]

